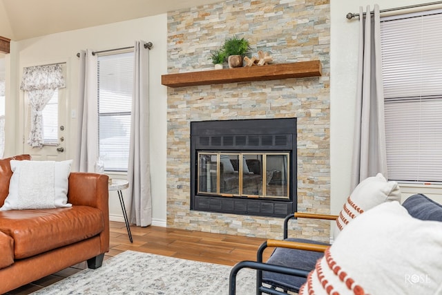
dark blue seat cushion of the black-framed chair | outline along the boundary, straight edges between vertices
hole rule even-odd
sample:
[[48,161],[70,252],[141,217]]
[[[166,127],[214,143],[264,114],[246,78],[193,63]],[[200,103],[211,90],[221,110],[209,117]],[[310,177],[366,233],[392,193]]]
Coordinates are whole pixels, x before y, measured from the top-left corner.
[[[316,242],[314,240],[307,240],[303,238],[287,238],[285,240],[293,242],[307,242],[309,244],[317,245],[329,245],[325,242]],[[316,261],[323,256],[323,252],[277,247],[266,263],[311,271],[315,268]],[[269,284],[272,287],[280,287],[291,292],[298,292],[299,288],[305,283],[306,280],[307,278],[289,276],[287,274],[262,272],[262,283]]]

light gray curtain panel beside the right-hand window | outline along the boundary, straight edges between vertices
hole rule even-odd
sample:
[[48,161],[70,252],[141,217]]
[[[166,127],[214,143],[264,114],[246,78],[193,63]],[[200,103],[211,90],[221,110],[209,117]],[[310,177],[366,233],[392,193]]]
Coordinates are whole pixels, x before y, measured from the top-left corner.
[[351,191],[359,182],[377,173],[387,178],[379,7],[377,4],[374,6],[372,16],[367,6],[365,17],[362,17],[363,8],[360,7],[359,15],[358,90]]

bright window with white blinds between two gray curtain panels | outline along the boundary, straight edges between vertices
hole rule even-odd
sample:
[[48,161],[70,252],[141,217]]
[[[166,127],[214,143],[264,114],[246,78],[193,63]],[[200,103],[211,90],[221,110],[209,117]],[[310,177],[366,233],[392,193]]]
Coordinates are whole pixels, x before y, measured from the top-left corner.
[[127,171],[133,52],[99,56],[97,76],[99,157],[106,171]]

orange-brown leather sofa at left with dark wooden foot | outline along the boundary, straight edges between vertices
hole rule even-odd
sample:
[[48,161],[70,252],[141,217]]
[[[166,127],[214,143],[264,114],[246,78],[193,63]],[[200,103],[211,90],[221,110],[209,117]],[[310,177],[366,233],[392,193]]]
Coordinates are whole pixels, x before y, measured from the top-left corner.
[[[8,196],[10,160],[0,160],[0,207]],[[102,265],[109,250],[108,176],[72,172],[68,208],[0,211],[0,294],[85,260]]]

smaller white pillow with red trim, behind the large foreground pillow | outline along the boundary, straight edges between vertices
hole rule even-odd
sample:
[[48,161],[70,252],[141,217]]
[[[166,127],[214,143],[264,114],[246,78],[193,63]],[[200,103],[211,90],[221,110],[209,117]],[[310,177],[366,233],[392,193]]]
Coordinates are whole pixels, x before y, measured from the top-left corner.
[[356,216],[378,204],[391,201],[401,201],[401,191],[397,182],[387,181],[381,173],[366,178],[354,189],[340,211],[333,231],[334,239]]

